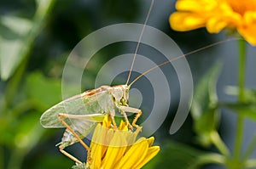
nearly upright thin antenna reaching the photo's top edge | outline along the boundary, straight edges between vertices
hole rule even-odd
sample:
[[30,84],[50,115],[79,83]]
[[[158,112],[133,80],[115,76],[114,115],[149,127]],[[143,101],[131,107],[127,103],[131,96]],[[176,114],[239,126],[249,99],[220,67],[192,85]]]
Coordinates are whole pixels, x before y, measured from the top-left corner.
[[127,81],[126,81],[126,83],[125,83],[126,85],[128,84],[128,82],[129,82],[129,80],[130,80],[130,77],[131,77],[131,70],[132,70],[132,68],[133,68],[133,65],[134,65],[134,62],[135,62],[135,59],[136,59],[137,50],[138,50],[138,48],[139,48],[139,46],[140,46],[140,43],[141,43],[141,41],[142,41],[143,32],[144,32],[145,27],[146,27],[146,24],[147,24],[147,22],[148,22],[149,14],[151,13],[151,10],[152,10],[152,8],[153,8],[153,5],[154,5],[154,0],[151,1],[150,7],[149,7],[149,9],[148,9],[148,14],[147,14],[146,20],[144,21],[144,24],[143,24],[143,30],[142,30],[142,32],[141,32],[141,34],[140,34],[140,37],[139,37],[139,40],[138,40],[138,42],[137,42],[137,47],[136,47],[136,49],[135,49],[135,53],[134,53],[134,55],[133,55],[133,59],[132,59],[132,62],[131,62],[131,69],[130,69],[130,71],[129,71],[129,75],[128,75],[128,77],[127,77]]

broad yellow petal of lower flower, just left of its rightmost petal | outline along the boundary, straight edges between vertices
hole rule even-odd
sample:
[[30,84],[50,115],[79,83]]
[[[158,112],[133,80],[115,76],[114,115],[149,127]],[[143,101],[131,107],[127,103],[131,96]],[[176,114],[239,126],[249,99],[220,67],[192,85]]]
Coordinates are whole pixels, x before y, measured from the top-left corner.
[[148,152],[148,141],[146,138],[140,138],[137,143],[125,153],[125,156],[119,161],[116,168],[133,168],[138,162],[142,161]]

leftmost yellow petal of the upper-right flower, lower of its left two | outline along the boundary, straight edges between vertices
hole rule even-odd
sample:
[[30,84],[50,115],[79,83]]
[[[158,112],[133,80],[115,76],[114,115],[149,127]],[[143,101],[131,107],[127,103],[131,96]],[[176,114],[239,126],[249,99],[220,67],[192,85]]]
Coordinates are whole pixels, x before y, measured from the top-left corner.
[[175,12],[170,16],[169,21],[175,31],[190,31],[206,25],[204,16],[187,12]]

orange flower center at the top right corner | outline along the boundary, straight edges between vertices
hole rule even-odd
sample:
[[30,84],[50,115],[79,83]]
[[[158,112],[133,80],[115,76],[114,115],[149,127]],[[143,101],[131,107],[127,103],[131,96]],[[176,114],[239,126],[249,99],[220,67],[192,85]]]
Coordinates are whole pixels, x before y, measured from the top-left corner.
[[256,11],[256,0],[226,0],[233,10],[241,15],[247,11]]

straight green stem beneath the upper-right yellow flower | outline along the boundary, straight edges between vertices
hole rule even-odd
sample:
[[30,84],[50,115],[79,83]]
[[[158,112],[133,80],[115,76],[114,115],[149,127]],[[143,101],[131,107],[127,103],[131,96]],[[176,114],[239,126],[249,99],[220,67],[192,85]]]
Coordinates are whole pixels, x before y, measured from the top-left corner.
[[[244,40],[238,41],[239,48],[239,70],[238,70],[238,101],[244,102],[244,84],[245,84],[245,68],[246,68],[246,42]],[[234,150],[234,161],[239,161],[241,154],[242,132],[244,126],[244,116],[238,112],[237,126],[236,126],[236,141]]]

